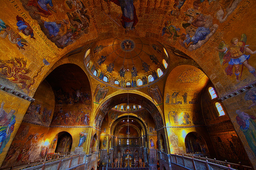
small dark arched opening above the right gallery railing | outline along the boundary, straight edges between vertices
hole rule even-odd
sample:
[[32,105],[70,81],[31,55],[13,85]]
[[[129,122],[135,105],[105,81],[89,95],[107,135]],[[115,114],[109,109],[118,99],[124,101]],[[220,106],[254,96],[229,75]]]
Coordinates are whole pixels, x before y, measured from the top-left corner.
[[196,132],[190,132],[185,137],[187,153],[209,153],[204,138]]

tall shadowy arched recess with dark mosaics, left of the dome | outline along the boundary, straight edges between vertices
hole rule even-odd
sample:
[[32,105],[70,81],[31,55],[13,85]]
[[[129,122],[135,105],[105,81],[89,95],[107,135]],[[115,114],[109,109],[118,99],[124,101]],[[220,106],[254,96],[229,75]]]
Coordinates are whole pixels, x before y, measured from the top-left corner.
[[52,86],[55,108],[51,125],[88,126],[92,110],[90,82],[76,64],[62,64],[45,78]]

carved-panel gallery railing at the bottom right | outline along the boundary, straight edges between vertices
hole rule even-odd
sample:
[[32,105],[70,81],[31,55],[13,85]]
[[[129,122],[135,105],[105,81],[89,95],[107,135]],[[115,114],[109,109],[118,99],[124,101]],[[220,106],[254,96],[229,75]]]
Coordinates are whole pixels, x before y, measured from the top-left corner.
[[[203,158],[200,156],[194,156],[191,154],[170,154],[171,162],[187,167],[189,169],[198,170],[198,169],[226,169],[226,170],[251,170],[252,167],[244,166],[234,163],[228,163],[223,161],[218,161],[216,159]],[[203,167],[204,166],[204,167]]]

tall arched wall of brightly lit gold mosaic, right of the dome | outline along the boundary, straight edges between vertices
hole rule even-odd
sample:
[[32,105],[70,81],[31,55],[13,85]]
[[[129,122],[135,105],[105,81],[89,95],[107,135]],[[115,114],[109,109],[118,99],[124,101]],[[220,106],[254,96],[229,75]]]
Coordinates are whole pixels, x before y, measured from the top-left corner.
[[193,65],[179,65],[171,70],[164,89],[166,126],[204,123],[200,101],[208,82],[204,72]]

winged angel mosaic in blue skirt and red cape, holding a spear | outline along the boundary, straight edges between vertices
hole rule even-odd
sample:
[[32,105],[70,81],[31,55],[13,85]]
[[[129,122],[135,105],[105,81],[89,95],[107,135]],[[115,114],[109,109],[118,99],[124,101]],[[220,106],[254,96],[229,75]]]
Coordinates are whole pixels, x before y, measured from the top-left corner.
[[225,63],[228,63],[228,66],[225,68],[225,72],[227,75],[231,76],[233,74],[233,67],[235,66],[235,75],[237,82],[239,82],[240,64],[242,64],[240,78],[242,77],[244,66],[248,68],[249,72],[252,73],[254,77],[256,77],[255,68],[253,68],[248,63],[250,55],[244,54],[245,52],[249,54],[255,54],[256,51],[252,51],[250,48],[248,48],[249,45],[245,45],[246,40],[246,35],[242,34],[240,41],[238,41],[237,37],[234,37],[231,39],[231,45],[225,44],[225,42],[222,41],[220,42],[219,47],[215,48],[217,51],[219,51],[220,64],[224,65]]

